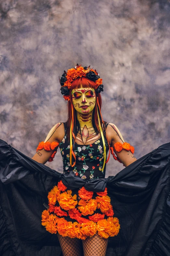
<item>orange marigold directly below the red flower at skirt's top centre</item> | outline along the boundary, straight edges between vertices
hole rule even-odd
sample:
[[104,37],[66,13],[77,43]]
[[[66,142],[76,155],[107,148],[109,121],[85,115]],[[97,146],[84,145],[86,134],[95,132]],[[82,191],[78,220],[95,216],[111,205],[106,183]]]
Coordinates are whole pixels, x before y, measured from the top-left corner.
[[95,199],[90,199],[88,201],[84,201],[83,199],[80,199],[78,202],[78,210],[83,214],[83,215],[88,215],[88,214],[93,214],[94,211],[97,208],[97,201]]

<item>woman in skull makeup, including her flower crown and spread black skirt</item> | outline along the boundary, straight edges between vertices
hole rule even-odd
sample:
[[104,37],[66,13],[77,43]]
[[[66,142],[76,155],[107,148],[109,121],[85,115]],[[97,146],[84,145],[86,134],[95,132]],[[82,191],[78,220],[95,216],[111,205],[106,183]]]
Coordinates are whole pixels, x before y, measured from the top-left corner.
[[[59,256],[59,242],[63,255],[168,255],[170,143],[136,160],[103,121],[97,71],[77,64],[59,80],[68,120],[34,157],[0,139],[0,255]],[[58,147],[62,174],[44,165]],[[125,168],[105,178],[110,152]]]

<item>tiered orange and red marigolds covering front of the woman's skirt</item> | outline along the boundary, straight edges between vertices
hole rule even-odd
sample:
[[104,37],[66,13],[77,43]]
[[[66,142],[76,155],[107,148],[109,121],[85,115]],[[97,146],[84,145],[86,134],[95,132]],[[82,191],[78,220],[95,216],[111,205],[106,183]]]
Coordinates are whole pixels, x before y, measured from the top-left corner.
[[[49,199],[49,209],[42,212],[42,225],[50,233],[58,233],[62,236],[68,236],[70,238],[86,239],[86,237],[92,237],[96,232],[101,238],[108,238],[109,236],[115,236],[119,233],[120,224],[118,218],[114,217],[114,212],[112,205],[110,204],[110,197],[106,196],[107,189],[104,192],[97,192],[95,199],[89,198],[94,194],[93,192],[89,194],[84,187],[79,189],[79,196],[83,196],[85,193],[85,198],[80,199],[79,202],[76,200],[77,195],[71,196],[72,191],[67,190],[63,182],[60,180],[57,186],[48,194]],[[62,192],[63,193],[62,193]],[[55,206],[58,201],[60,206]],[[78,209],[75,206],[78,203]],[[101,213],[94,213],[96,209],[100,209]],[[65,212],[65,211],[68,212]],[[51,212],[55,214],[50,214]],[[94,213],[94,214],[93,214]],[[89,218],[84,218],[81,215],[88,215]],[[75,221],[67,221],[64,217],[68,216]],[[107,219],[105,218],[107,216]]]

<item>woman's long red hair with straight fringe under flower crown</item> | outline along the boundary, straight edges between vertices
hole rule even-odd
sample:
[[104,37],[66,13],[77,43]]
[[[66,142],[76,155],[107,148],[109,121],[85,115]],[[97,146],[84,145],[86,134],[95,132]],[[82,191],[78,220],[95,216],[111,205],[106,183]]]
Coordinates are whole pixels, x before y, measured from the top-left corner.
[[76,110],[73,106],[73,102],[72,102],[72,97],[71,97],[71,92],[73,89],[75,88],[80,88],[82,85],[83,88],[93,88],[95,90],[95,94],[96,94],[96,102],[95,102],[95,106],[94,106],[94,110],[93,110],[93,115],[92,115],[92,124],[94,127],[94,130],[97,132],[100,132],[99,129],[99,123],[98,123],[98,116],[97,116],[97,97],[98,97],[98,101],[99,101],[99,106],[101,109],[102,106],[102,98],[100,93],[96,92],[96,88],[95,88],[95,82],[91,81],[90,79],[88,79],[87,77],[78,77],[76,78],[72,84],[71,84],[71,88],[69,91],[69,96],[70,96],[70,100],[68,101],[67,107],[68,107],[68,119],[67,119],[67,139],[69,140],[70,138],[70,127],[71,127],[71,119],[72,119],[72,108],[73,108],[73,115],[74,115],[74,131],[75,131],[75,136],[78,133],[78,120],[77,120],[77,115],[76,115]]

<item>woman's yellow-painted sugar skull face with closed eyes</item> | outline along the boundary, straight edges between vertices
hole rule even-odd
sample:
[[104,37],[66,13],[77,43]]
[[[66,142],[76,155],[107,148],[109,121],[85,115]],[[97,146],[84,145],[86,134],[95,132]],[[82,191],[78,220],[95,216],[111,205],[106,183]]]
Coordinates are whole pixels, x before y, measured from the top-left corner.
[[71,92],[72,101],[76,111],[82,114],[90,113],[95,106],[96,94],[90,87],[73,89]]

